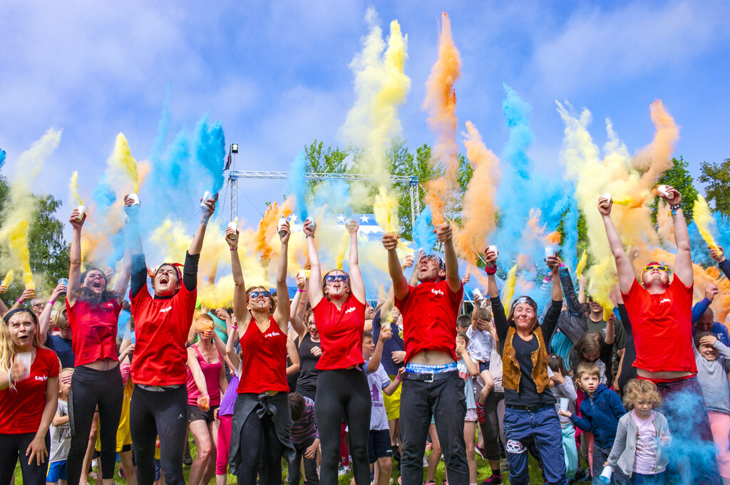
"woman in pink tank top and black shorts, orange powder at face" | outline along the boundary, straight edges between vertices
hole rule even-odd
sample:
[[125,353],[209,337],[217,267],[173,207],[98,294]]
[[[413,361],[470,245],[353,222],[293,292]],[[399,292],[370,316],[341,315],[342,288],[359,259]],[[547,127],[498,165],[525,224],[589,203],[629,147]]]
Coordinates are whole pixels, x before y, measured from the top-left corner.
[[[218,423],[215,410],[220,406],[220,392],[226,392],[228,381],[223,372],[223,348],[218,333],[213,330],[210,315],[199,315],[194,321],[198,341],[188,347],[188,427],[195,440],[198,453],[190,467],[188,485],[207,484],[215,468],[215,441]],[[207,473],[206,473],[207,472]]]

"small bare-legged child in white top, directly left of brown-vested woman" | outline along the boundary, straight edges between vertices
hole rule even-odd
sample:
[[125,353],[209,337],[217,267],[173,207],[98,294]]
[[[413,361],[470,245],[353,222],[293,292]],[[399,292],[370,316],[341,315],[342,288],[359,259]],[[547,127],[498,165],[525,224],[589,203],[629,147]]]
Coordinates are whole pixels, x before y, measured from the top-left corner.
[[489,392],[494,388],[494,380],[489,373],[489,357],[494,348],[494,341],[491,335],[492,311],[483,306],[475,307],[472,311],[472,322],[466,330],[466,336],[469,338],[469,356],[477,362],[479,366],[479,376],[484,382],[484,386],[479,392],[477,399],[477,419],[480,423],[485,420],[484,402],[487,400]]

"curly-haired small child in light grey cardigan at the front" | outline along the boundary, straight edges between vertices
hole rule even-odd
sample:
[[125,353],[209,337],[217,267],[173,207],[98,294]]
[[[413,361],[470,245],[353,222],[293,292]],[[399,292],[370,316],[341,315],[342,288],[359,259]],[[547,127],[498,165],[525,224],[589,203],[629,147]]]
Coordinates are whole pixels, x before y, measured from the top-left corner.
[[[631,379],[623,391],[623,403],[634,409],[618,420],[616,439],[604,466],[613,467],[616,484],[663,485],[669,463],[664,448],[671,435],[664,414],[654,411],[661,403],[656,384]],[[619,478],[618,470],[624,478]]]

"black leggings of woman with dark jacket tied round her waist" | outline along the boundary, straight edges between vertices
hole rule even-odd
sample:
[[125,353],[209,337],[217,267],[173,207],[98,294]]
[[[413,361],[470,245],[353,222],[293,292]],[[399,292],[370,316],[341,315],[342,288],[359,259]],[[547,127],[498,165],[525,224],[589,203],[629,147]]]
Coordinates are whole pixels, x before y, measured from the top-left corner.
[[[281,485],[281,458],[284,446],[279,441],[276,425],[270,414],[259,418],[256,406],[241,428],[241,447],[237,478],[238,485],[256,485],[256,474],[261,485]],[[299,463],[299,462],[297,462]]]

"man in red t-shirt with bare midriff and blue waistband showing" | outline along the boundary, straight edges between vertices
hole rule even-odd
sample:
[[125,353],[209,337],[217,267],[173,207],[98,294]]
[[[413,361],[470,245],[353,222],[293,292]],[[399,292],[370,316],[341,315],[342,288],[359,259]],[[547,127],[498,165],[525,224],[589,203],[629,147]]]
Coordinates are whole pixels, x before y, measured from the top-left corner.
[[400,433],[403,485],[423,481],[423,451],[433,416],[444,454],[449,483],[469,484],[464,443],[466,398],[464,381],[456,370],[456,317],[464,295],[458,260],[447,224],[436,230],[446,261],[437,255],[421,257],[415,266],[419,284],[410,286],[396,254],[398,236],[386,233],[388,271],[396,307],[403,316],[406,372],[401,390]]

